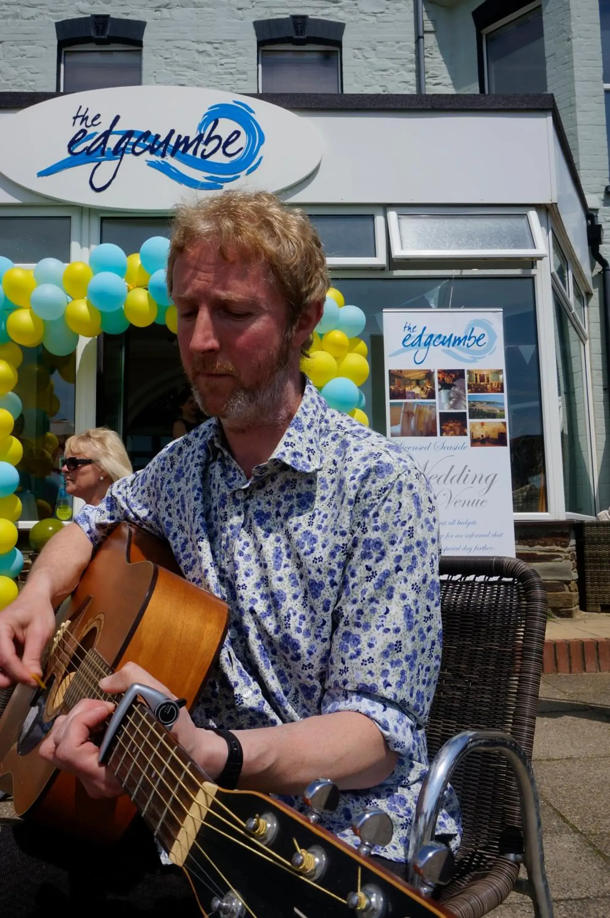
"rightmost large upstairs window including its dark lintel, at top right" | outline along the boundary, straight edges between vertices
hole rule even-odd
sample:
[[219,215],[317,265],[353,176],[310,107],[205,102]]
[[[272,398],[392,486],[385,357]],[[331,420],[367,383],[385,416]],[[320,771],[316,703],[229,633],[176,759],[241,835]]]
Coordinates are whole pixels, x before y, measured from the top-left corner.
[[522,0],[503,4],[509,15],[499,18],[497,0],[486,0],[472,13],[477,27],[479,83],[484,93],[546,93],[542,7]]

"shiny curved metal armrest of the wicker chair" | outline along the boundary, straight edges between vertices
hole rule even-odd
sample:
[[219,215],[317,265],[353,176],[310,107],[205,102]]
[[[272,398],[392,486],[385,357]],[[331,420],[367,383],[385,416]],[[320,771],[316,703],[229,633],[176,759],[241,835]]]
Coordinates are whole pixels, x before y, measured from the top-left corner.
[[438,751],[417,798],[409,844],[409,882],[424,894],[430,894],[429,885],[425,879],[416,874],[413,863],[424,845],[434,840],[438,813],[451,775],[471,752],[499,752],[505,756],[513,769],[521,804],[525,849],[523,860],[531,885],[534,912],[536,918],[553,918],[553,906],[544,866],[540,807],[534,772],[525,752],[516,740],[508,733],[501,733],[498,730],[466,730],[452,737]]

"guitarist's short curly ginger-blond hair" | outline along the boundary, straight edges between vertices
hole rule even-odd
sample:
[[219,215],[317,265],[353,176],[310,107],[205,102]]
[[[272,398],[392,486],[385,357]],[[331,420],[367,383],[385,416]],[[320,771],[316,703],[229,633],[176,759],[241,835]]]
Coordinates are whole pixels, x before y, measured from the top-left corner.
[[[302,210],[286,207],[269,192],[225,191],[176,208],[167,264],[170,293],[176,258],[198,241],[214,241],[227,262],[268,264],[286,301],[288,331],[311,303],[326,298],[330,281],[316,230]],[[305,341],[303,353],[310,345]]]

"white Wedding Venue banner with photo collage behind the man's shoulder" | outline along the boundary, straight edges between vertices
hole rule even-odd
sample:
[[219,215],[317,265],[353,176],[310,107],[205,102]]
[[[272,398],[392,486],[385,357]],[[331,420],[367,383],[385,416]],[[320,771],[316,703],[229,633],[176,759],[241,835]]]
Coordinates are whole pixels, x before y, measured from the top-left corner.
[[434,488],[443,554],[515,554],[501,309],[384,309],[387,435]]

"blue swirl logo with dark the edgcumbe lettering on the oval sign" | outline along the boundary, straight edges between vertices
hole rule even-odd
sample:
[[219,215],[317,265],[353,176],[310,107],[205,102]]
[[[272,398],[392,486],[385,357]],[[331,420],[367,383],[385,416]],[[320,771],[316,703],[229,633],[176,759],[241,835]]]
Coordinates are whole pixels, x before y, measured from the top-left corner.
[[[262,162],[265,135],[254,117],[254,109],[245,102],[234,99],[210,106],[193,137],[174,128],[162,139],[161,134],[150,129],[119,129],[120,118],[115,115],[108,128],[92,131],[100,126],[101,116],[89,116],[89,109],[83,112],[79,106],[72,127],[77,124],[81,127],[66,145],[68,155],[42,169],[39,177],[91,166],[89,186],[99,194],[115,181],[126,156],[146,156],[150,169],[178,185],[196,191],[220,191],[255,172]],[[109,175],[106,163],[115,164]]]

